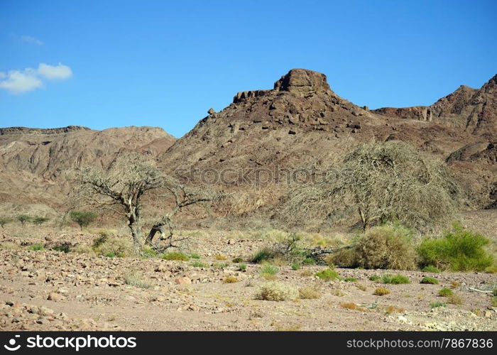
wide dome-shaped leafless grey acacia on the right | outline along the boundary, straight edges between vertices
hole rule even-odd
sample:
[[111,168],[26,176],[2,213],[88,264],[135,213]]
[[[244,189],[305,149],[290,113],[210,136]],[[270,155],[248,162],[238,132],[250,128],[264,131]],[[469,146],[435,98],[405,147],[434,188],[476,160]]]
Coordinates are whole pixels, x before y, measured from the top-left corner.
[[293,190],[285,214],[313,208],[329,214],[346,206],[356,209],[363,229],[393,220],[426,229],[450,219],[459,204],[459,188],[444,163],[399,141],[358,146],[323,176],[320,184]]

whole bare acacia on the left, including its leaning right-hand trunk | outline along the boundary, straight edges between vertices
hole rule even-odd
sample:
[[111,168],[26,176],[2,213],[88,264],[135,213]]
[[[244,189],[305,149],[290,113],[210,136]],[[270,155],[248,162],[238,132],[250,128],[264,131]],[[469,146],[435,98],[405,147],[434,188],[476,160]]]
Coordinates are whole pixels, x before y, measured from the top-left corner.
[[[165,205],[167,200],[171,196],[173,197],[173,208],[153,224],[146,239],[146,243],[152,246],[155,251],[164,251],[176,246],[175,243],[179,240],[173,241],[171,219],[183,207],[214,201],[222,196],[209,189],[181,185],[178,180],[160,173],[151,161],[138,153],[128,153],[121,156],[109,170],[83,168],[77,171],[77,180],[80,182],[78,195],[85,203],[106,206],[117,214],[126,217],[137,255],[141,255],[143,249],[141,224],[143,197],[147,192],[153,190],[153,195],[160,199],[161,205]],[[169,231],[167,236],[164,232],[165,228]],[[153,236],[156,232],[160,233],[160,239],[153,244]],[[161,243],[163,240],[167,240],[168,243]]]

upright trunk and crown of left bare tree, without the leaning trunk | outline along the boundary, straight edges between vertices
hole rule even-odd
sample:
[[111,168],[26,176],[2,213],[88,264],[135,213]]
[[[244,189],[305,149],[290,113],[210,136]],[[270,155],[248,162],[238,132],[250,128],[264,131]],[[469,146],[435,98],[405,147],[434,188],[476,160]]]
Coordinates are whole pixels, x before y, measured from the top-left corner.
[[164,178],[159,170],[138,153],[119,157],[109,170],[85,167],[77,171],[81,189],[79,196],[88,204],[107,206],[116,214],[126,217],[133,247],[141,254],[142,200],[146,192],[163,186]]

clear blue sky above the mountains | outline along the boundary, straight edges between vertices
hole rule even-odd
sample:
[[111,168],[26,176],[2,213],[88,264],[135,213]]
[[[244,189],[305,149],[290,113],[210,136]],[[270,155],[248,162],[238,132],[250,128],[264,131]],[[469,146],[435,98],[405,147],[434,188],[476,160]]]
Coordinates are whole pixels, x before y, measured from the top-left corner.
[[182,136],[294,67],[370,108],[497,73],[497,1],[0,1],[0,127]]

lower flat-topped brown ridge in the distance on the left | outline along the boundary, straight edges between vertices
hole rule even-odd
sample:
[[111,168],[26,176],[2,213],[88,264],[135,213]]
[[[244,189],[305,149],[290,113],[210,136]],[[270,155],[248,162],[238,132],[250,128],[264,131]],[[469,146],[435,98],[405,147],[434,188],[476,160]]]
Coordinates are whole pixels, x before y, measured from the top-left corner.
[[70,190],[66,170],[83,165],[107,168],[125,151],[155,158],[174,141],[173,136],[155,127],[0,129],[0,203],[60,207]]

